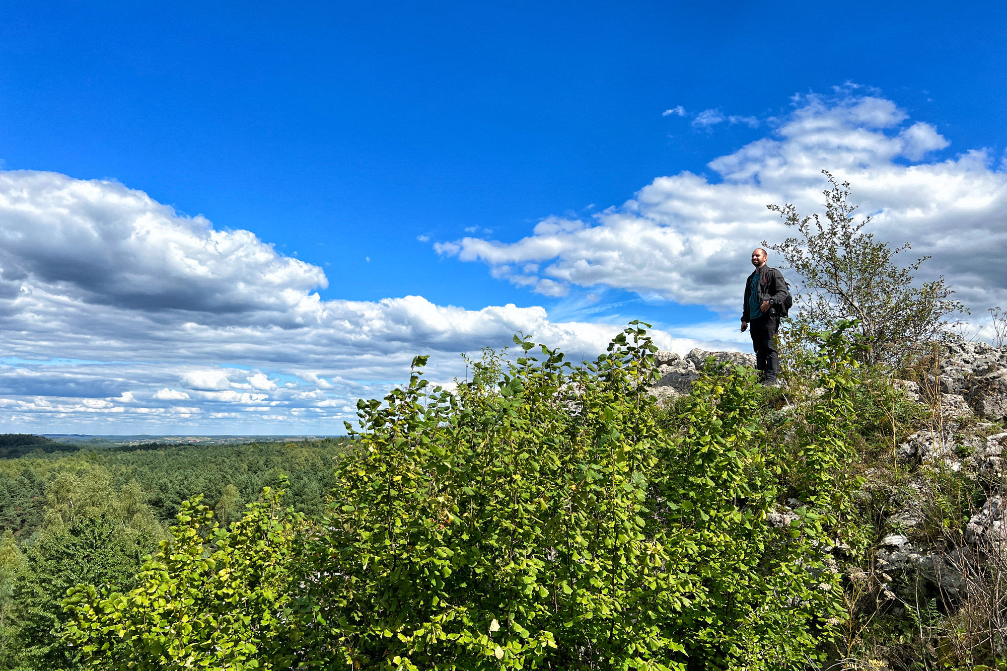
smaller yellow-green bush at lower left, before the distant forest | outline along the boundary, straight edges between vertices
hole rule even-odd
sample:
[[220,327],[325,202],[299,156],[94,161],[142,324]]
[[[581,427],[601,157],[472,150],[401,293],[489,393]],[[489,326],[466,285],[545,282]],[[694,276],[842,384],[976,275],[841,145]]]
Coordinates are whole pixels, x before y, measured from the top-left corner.
[[289,668],[303,636],[290,607],[303,578],[304,523],[281,496],[266,488],[230,530],[201,497],[185,502],[134,589],[69,590],[66,640],[91,668]]

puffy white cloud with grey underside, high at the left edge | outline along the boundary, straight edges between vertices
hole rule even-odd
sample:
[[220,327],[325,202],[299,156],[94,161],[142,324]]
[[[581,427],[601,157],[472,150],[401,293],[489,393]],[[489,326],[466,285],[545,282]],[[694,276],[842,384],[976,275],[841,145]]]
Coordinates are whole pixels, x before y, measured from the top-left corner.
[[291,314],[327,285],[248,231],[217,231],[116,182],[25,170],[0,172],[0,268],[8,298],[38,289],[218,318]]

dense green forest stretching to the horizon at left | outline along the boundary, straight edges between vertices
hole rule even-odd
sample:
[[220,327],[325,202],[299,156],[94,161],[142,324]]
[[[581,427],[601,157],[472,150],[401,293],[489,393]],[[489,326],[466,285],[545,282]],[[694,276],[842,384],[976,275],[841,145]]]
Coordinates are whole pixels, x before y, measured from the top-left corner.
[[348,442],[92,449],[0,436],[0,668],[68,668],[66,589],[131,584],[185,500],[202,496],[228,524],[283,482],[288,505],[319,516]]

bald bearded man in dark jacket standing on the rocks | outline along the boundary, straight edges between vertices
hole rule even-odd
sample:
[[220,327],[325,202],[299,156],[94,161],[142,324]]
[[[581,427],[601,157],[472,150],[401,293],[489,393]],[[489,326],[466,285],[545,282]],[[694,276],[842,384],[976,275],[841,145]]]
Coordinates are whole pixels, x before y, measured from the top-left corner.
[[741,332],[751,326],[755,368],[763,385],[775,387],[779,374],[779,355],[773,338],[779,328],[779,306],[788,290],[783,274],[766,265],[769,255],[761,247],[752,252],[755,270],[745,282],[745,302],[741,308]]

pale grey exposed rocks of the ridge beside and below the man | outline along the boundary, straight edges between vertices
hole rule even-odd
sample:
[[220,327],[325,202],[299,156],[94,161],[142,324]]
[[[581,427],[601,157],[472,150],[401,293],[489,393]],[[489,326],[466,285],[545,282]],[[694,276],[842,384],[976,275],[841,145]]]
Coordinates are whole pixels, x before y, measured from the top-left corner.
[[[755,366],[754,355],[739,352],[695,349],[682,357],[661,351],[655,356],[661,378],[651,387],[652,394],[668,401],[691,393],[692,383],[708,357],[735,366]],[[1007,431],[1001,430],[1007,423],[1007,348],[985,343],[950,344],[923,377],[922,385],[896,380],[895,386],[910,400],[937,409],[934,426],[908,435],[898,444],[894,456],[906,465],[962,474],[995,486],[991,487],[995,491],[1002,482],[1003,452],[1007,449]],[[916,477],[910,487],[922,497],[929,486],[925,478]],[[799,505],[798,501],[787,501],[787,506],[769,515],[770,524],[787,526],[797,519],[793,510]],[[910,572],[954,594],[965,583],[963,572],[968,572],[968,567],[991,546],[1004,548],[1001,551],[1007,556],[1007,494],[990,496],[971,517],[963,547],[936,548],[911,541],[909,537],[922,518],[918,506],[911,504],[887,517],[893,533],[881,540],[875,555],[885,577]],[[894,583],[891,588],[895,589]],[[887,584],[885,593],[894,597]]]

